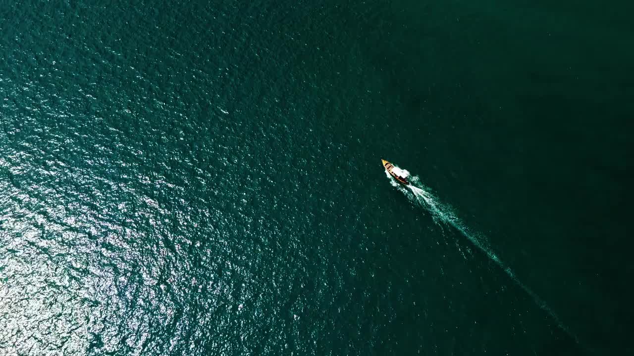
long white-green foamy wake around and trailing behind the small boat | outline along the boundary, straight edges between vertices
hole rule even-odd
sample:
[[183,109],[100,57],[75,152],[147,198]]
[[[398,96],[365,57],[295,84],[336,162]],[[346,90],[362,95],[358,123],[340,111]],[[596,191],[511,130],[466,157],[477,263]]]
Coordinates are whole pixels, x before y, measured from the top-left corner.
[[399,191],[405,194],[412,203],[414,203],[418,207],[427,210],[427,212],[431,214],[432,219],[434,219],[434,222],[436,222],[436,224],[438,224],[441,228],[453,227],[454,229],[459,231],[462,236],[465,236],[465,238],[467,238],[470,243],[472,243],[472,245],[474,245],[485,255],[487,255],[487,257],[489,257],[489,259],[491,259],[498,267],[500,267],[500,269],[503,270],[507,274],[507,276],[510,277],[510,279],[515,284],[517,284],[517,286],[525,291],[533,299],[536,305],[541,308],[541,310],[547,312],[547,314],[552,317],[553,321],[557,323],[557,326],[562,329],[562,331],[573,338],[573,340],[578,345],[581,345],[577,336],[562,323],[559,316],[557,316],[557,314],[555,314],[555,312],[553,312],[553,310],[548,307],[546,302],[544,302],[544,300],[541,299],[540,296],[538,296],[533,291],[533,289],[529,288],[528,286],[526,286],[526,284],[517,279],[517,276],[515,276],[513,270],[510,269],[510,267],[508,267],[508,265],[506,265],[504,262],[502,262],[502,260],[500,260],[498,255],[496,255],[493,249],[491,249],[485,236],[479,233],[472,232],[469,227],[467,227],[464,222],[456,216],[455,210],[453,210],[450,205],[441,203],[441,201],[439,201],[439,199],[431,193],[431,189],[422,184],[418,176],[411,176],[410,172],[408,172],[407,170],[395,166],[394,170],[396,169],[398,169],[403,174],[403,177],[407,177],[410,185],[404,186],[403,184],[399,184],[399,182],[397,182],[396,179],[394,179],[386,171],[385,174],[389,178],[392,186],[398,188]]

